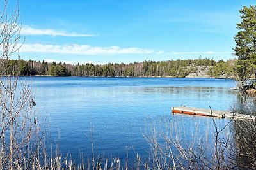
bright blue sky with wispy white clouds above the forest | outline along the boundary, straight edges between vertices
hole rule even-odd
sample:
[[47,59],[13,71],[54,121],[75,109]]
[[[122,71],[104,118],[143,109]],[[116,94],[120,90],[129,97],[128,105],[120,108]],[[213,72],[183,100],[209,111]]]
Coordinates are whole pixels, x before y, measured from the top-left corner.
[[253,1],[20,0],[22,59],[68,63],[234,58]]

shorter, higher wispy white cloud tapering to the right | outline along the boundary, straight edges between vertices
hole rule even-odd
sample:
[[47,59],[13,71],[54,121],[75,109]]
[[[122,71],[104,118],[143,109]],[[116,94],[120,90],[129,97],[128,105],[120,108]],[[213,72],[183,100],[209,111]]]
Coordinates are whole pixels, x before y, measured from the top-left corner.
[[76,32],[67,32],[65,30],[55,30],[55,29],[36,29],[29,26],[23,26],[20,34],[26,36],[95,36],[93,34],[78,34]]

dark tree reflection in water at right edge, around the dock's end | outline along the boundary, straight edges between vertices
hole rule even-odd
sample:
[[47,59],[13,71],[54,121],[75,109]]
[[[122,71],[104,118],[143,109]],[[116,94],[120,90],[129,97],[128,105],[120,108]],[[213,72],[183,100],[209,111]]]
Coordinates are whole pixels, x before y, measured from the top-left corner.
[[234,120],[232,133],[234,144],[230,145],[236,158],[236,165],[241,169],[256,168],[256,121],[255,97],[237,94],[234,113],[252,115],[252,120]]

